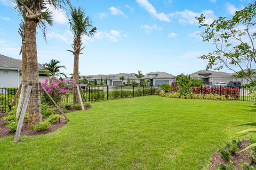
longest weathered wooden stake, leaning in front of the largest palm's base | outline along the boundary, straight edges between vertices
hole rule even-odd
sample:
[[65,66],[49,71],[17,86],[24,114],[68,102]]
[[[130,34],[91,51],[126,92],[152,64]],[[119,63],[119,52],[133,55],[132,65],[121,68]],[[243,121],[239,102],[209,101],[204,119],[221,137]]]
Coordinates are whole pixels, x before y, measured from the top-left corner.
[[14,142],[18,142],[19,139],[20,139],[20,132],[21,132],[22,124],[23,124],[24,117],[25,117],[25,114],[26,114],[26,111],[27,111],[28,101],[29,101],[29,98],[30,98],[31,90],[32,90],[32,86],[28,86],[26,96],[25,96],[25,100],[24,100],[24,103],[23,103],[23,106],[22,106],[22,110],[21,110],[17,130],[16,130],[16,133],[15,133],[15,136],[14,136]]

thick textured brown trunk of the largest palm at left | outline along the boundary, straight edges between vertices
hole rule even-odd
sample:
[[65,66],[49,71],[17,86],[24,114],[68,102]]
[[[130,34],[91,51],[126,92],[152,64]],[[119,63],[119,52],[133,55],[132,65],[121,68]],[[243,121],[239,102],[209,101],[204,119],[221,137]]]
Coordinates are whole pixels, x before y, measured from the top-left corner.
[[33,19],[26,20],[26,56],[27,56],[27,82],[33,86],[31,91],[28,112],[28,126],[42,122],[41,115],[41,87],[39,84],[37,50],[36,50],[36,27],[37,21]]

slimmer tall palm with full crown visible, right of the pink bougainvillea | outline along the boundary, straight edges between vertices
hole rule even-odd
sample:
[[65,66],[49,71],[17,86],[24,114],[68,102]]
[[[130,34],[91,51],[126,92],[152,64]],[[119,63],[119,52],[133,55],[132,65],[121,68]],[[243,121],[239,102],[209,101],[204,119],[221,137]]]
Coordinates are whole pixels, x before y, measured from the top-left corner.
[[[74,40],[72,44],[73,50],[68,50],[74,55],[74,71],[73,79],[78,84],[79,83],[79,54],[82,54],[82,37],[92,37],[96,32],[96,27],[92,26],[89,16],[85,16],[85,11],[82,7],[76,8],[75,6],[70,6],[71,18],[69,19],[70,29],[74,34]],[[79,103],[77,89],[73,90],[73,103]]]

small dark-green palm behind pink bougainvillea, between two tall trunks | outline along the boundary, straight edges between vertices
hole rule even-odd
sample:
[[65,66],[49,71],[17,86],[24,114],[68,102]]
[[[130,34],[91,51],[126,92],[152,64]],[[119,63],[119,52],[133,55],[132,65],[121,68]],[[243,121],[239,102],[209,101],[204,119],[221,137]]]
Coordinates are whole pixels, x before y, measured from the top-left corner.
[[63,75],[64,77],[67,77],[67,75],[63,72],[60,72],[60,69],[66,69],[65,65],[58,65],[60,64],[60,61],[52,59],[49,63],[44,64],[44,69],[46,70],[46,74],[50,78],[59,77],[60,75]]

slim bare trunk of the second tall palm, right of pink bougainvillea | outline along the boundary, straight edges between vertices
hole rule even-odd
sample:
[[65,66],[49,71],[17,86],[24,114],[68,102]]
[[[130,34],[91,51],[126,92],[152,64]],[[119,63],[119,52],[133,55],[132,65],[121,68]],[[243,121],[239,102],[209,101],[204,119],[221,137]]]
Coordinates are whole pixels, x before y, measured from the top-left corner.
[[[76,82],[76,84],[79,83],[79,53],[75,53],[74,54],[74,72],[73,72],[73,79]],[[77,92],[77,88],[74,87],[73,90],[73,103],[74,104],[78,104],[79,100],[78,100],[78,92]]]

